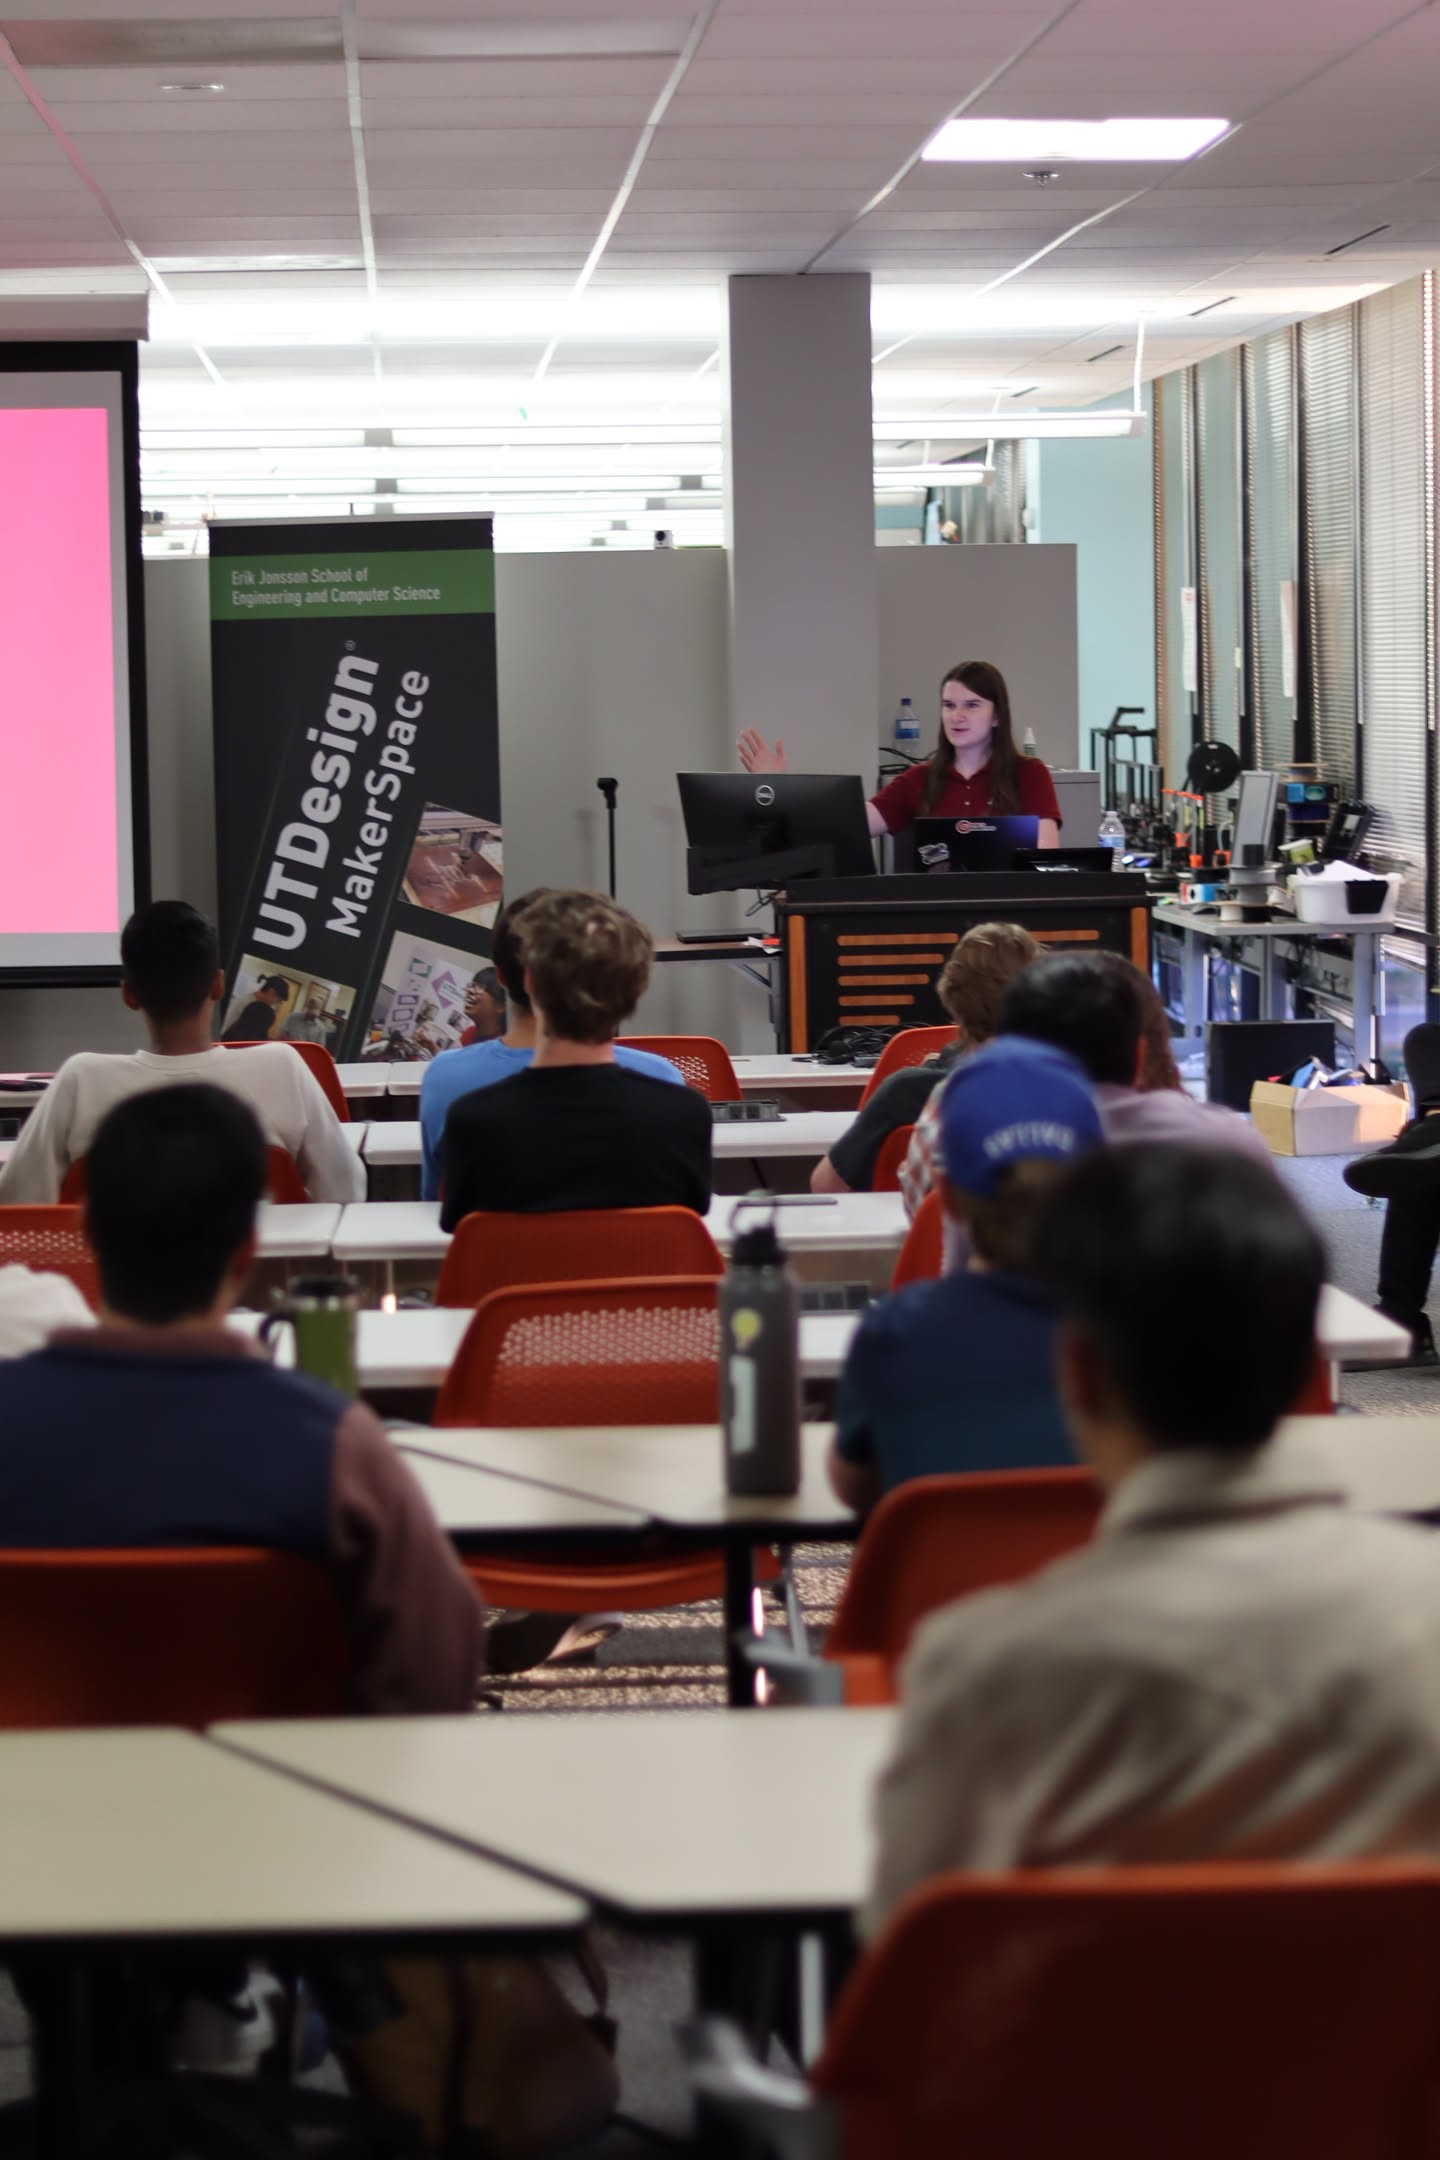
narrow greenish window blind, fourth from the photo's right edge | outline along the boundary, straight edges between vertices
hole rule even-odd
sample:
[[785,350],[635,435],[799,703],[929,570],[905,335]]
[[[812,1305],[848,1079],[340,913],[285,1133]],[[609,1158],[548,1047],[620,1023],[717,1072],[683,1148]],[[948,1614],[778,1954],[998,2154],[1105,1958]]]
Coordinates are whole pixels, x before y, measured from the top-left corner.
[[1239,747],[1239,354],[1196,367],[1196,529],[1205,732]]

